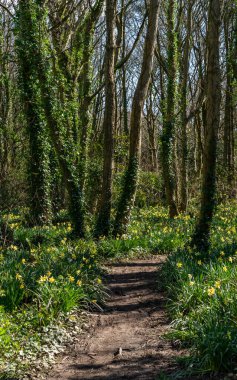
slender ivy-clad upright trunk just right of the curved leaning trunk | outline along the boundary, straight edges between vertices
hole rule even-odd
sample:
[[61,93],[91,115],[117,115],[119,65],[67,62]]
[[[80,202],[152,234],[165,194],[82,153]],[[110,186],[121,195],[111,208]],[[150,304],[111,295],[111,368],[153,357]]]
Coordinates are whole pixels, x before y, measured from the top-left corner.
[[174,176],[172,173],[172,145],[175,128],[175,100],[177,92],[177,41],[175,33],[175,8],[176,0],[168,3],[168,62],[167,62],[167,94],[163,131],[161,136],[161,165],[166,193],[166,201],[169,206],[170,217],[178,214],[174,199]]

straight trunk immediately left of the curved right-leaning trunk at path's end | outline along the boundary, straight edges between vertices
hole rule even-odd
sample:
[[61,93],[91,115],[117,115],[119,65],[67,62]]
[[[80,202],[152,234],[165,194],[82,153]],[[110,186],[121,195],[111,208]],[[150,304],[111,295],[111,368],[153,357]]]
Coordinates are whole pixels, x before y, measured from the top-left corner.
[[115,25],[117,0],[106,0],[104,164],[101,199],[95,237],[107,236],[110,230],[112,200],[112,165],[115,130]]

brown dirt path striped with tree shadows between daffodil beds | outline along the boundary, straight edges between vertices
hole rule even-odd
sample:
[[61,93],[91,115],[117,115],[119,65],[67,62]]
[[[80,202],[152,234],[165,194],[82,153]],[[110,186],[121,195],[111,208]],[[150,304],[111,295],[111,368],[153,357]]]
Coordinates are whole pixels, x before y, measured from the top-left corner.
[[111,299],[104,312],[92,314],[88,331],[48,380],[155,380],[162,371],[175,369],[172,358],[178,352],[161,337],[168,322],[163,295],[155,289],[164,259],[113,264]]

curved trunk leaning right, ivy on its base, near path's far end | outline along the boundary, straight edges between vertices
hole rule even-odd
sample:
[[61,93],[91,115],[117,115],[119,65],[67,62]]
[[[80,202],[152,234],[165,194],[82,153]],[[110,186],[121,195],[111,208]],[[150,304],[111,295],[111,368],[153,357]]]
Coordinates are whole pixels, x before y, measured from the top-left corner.
[[142,113],[153,70],[154,51],[158,29],[159,2],[157,0],[150,1],[148,12],[148,26],[143,52],[142,69],[132,104],[129,161],[124,174],[121,195],[117,205],[114,235],[121,235],[126,232],[137,188]]

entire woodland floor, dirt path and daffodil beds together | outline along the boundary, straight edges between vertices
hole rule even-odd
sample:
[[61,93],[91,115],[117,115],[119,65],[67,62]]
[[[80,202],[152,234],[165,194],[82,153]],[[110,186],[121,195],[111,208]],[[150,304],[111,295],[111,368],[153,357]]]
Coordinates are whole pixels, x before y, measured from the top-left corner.
[[236,215],[236,201],[219,205],[205,258],[187,248],[195,217],[162,207],[98,242],[72,240],[63,213],[34,228],[6,214],[0,378],[237,379]]

